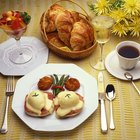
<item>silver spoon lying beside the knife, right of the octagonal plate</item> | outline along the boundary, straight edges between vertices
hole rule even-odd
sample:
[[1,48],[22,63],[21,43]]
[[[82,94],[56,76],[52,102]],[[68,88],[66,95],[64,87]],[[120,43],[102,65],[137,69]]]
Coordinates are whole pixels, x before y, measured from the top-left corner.
[[106,97],[110,101],[110,129],[115,129],[114,120],[113,120],[113,109],[112,101],[115,99],[115,88],[112,84],[108,84],[106,87]]

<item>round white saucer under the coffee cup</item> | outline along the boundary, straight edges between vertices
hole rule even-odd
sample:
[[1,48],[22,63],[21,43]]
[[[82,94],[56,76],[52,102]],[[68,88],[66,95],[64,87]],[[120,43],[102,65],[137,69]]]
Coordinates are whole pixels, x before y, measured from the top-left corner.
[[[124,73],[126,71],[120,67],[119,60],[115,51],[112,51],[111,53],[108,54],[108,56],[105,59],[105,66],[108,72],[111,73],[116,78],[127,80],[124,77]],[[133,80],[140,79],[140,62],[138,62],[137,66],[134,69],[129,70],[128,72],[133,75],[134,77]]]

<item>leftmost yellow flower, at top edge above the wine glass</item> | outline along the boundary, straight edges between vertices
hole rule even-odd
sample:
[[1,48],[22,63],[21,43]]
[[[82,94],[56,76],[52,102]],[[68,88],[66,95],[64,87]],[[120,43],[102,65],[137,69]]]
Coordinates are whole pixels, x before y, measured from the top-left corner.
[[98,15],[106,14],[109,12],[109,1],[108,0],[97,0],[97,3],[95,4],[95,12]]

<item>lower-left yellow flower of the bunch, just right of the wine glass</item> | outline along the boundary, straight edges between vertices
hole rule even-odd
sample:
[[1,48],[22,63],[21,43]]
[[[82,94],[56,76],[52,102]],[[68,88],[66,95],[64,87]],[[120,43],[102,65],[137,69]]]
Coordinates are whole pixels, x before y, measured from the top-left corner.
[[126,24],[116,23],[112,27],[112,32],[121,37],[123,35],[127,35],[128,27],[126,26]]

